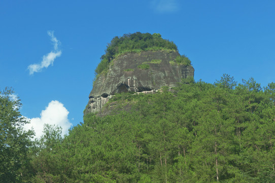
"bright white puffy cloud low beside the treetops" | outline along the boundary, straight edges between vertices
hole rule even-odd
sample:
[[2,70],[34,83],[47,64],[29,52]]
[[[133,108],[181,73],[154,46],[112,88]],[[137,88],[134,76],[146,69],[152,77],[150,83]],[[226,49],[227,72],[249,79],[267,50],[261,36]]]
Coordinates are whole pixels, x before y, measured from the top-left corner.
[[62,127],[62,135],[68,133],[68,129],[72,126],[68,120],[68,110],[58,101],[51,101],[45,110],[42,110],[40,117],[27,118],[29,124],[24,126],[25,130],[33,130],[36,133],[35,138],[40,138],[43,134],[45,124]]

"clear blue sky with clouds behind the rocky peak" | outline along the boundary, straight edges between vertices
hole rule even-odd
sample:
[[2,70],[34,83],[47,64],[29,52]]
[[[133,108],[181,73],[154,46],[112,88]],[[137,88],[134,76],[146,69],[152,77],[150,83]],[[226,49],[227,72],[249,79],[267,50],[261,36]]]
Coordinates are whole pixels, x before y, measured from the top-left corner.
[[275,1],[253,0],[2,0],[0,89],[13,87],[32,124],[66,130],[83,121],[107,44],[135,32],[174,41],[196,81],[214,83],[226,73],[266,86],[275,82],[274,10]]

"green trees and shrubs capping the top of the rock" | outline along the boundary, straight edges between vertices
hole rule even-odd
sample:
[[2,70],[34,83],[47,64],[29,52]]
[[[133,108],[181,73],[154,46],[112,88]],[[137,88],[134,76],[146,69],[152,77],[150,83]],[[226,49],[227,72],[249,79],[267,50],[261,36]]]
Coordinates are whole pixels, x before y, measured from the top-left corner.
[[101,56],[101,62],[95,69],[98,75],[108,69],[109,63],[117,55],[125,52],[140,52],[147,50],[176,50],[177,46],[172,42],[161,38],[160,34],[140,33],[124,34],[122,37],[114,37],[108,44],[105,54]]

